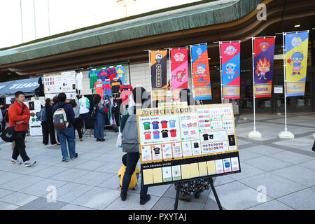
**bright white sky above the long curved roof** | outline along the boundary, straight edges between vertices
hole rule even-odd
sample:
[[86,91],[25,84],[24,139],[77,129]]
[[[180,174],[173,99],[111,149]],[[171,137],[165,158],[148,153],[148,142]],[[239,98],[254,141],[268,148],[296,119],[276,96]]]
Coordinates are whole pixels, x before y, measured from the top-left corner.
[[[118,7],[116,1],[0,0],[0,48],[124,18],[125,9]],[[136,0],[130,12],[137,15],[195,1],[198,0]]]

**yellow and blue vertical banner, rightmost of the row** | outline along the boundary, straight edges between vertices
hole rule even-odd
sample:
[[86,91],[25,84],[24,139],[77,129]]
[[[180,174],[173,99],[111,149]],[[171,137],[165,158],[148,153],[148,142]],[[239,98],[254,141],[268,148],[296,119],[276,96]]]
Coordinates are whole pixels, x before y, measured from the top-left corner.
[[285,34],[286,96],[304,96],[309,31]]

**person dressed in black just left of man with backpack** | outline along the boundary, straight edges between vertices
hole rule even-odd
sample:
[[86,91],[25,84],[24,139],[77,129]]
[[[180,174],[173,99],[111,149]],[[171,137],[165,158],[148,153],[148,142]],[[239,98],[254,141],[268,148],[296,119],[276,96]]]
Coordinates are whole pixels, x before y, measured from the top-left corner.
[[43,144],[48,145],[48,140],[50,137],[50,144],[55,145],[57,144],[56,142],[56,136],[55,136],[55,128],[54,125],[52,124],[52,103],[50,98],[47,98],[45,100],[45,113],[47,116],[47,120],[43,121],[41,123],[41,127],[43,129]]

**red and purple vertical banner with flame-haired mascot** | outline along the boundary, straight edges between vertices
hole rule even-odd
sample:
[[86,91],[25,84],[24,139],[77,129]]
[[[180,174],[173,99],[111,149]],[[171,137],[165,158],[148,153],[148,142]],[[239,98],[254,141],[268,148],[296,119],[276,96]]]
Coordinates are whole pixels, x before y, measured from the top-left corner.
[[253,40],[255,98],[271,97],[275,37]]

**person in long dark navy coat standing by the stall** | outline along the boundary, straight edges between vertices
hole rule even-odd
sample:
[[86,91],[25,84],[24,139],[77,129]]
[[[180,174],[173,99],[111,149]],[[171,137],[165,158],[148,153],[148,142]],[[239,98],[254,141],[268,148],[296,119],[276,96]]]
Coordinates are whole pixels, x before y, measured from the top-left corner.
[[101,96],[99,94],[94,94],[93,103],[95,109],[95,122],[94,122],[94,138],[97,141],[105,141],[104,139],[104,125],[105,125],[105,115],[106,110],[101,102]]

